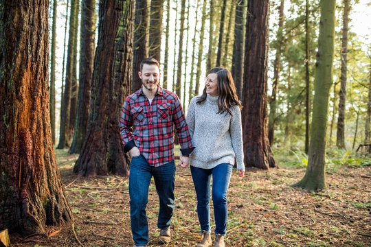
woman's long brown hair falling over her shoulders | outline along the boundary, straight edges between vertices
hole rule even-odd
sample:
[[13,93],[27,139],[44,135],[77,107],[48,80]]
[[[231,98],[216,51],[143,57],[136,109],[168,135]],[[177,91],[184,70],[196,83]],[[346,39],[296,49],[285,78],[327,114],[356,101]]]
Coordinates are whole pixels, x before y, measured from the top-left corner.
[[[210,69],[209,73],[216,73],[217,80],[218,80],[218,113],[224,113],[227,111],[230,115],[232,115],[231,107],[238,106],[240,109],[242,108],[241,102],[238,100],[238,96],[236,93],[236,86],[234,86],[234,80],[232,78],[231,72],[228,69],[223,67],[215,67],[214,69]],[[206,94],[206,86],[203,89],[203,93],[201,97],[197,100],[197,104],[201,104],[205,102],[207,97]]]

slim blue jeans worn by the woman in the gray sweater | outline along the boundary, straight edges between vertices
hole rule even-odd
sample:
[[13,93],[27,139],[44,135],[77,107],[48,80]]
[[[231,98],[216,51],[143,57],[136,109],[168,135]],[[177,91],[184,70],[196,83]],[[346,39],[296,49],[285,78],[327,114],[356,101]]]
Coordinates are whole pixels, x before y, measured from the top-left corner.
[[212,169],[190,167],[197,196],[197,213],[201,231],[210,232],[210,180],[214,203],[215,234],[225,235],[227,228],[227,190],[232,175],[231,164],[220,164]]

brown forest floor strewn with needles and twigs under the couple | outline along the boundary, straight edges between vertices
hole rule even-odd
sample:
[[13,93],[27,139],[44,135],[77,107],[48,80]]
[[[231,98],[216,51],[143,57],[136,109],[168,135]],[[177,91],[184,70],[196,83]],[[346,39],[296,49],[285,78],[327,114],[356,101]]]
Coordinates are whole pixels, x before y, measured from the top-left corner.
[[[76,155],[56,150],[56,157],[74,221],[48,226],[46,234],[12,235],[12,246],[133,246],[128,178],[79,178],[72,171]],[[327,169],[324,191],[291,187],[304,173],[297,167],[247,169],[239,178],[235,171],[228,191],[226,246],[371,246],[370,164]],[[189,168],[177,167],[175,195],[172,240],[162,246],[196,246],[201,233]],[[148,246],[159,246],[158,210],[151,183]]]

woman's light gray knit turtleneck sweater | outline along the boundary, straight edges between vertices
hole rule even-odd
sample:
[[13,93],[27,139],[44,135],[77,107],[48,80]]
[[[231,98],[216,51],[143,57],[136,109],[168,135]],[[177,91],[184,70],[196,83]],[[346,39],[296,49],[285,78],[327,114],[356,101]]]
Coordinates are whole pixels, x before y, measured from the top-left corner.
[[198,99],[199,96],[192,99],[187,114],[195,147],[190,154],[190,165],[203,169],[222,163],[234,165],[236,156],[237,169],[245,171],[240,108],[232,106],[232,116],[227,112],[217,114],[218,96],[207,95],[201,104],[196,104]]

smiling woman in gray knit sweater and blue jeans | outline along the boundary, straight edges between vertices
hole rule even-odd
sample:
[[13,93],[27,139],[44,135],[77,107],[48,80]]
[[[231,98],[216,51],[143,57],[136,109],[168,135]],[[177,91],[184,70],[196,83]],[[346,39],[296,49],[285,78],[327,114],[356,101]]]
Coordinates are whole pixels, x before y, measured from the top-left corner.
[[[197,244],[199,247],[212,245],[209,206],[211,176],[216,235],[214,246],[225,246],[227,189],[235,158],[238,175],[243,176],[245,172],[240,108],[232,74],[223,67],[209,71],[203,94],[190,102],[187,124],[196,147],[190,154],[190,169],[203,232],[203,239]],[[184,163],[181,165],[185,166]]]

